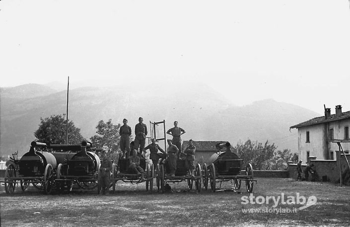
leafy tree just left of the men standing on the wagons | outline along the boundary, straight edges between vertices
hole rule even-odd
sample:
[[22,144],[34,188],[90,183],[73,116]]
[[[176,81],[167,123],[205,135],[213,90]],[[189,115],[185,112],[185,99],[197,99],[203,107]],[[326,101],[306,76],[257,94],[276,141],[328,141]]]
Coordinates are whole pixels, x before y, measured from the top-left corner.
[[103,148],[107,151],[107,155],[111,160],[116,160],[116,155],[119,150],[119,128],[121,124],[113,124],[112,119],[107,122],[100,120],[96,126],[96,133],[90,138],[95,147]]

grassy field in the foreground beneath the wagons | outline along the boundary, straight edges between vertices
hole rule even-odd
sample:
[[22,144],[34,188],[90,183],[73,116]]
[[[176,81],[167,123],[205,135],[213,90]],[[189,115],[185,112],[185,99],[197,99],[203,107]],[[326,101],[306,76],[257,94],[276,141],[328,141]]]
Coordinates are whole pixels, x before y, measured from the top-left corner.
[[[118,182],[115,194],[98,195],[97,190],[44,195],[30,187],[6,195],[0,188],[1,226],[350,226],[350,187],[328,182],[295,181],[290,178],[257,178],[253,195],[262,197],[317,198],[317,203],[299,210],[302,204],[242,204],[249,196],[240,192],[187,191],[185,183],[170,184],[173,192],[146,192],[138,185]],[[231,188],[231,182],[223,184]],[[253,201],[257,201],[254,200]],[[290,200],[291,201],[291,200]],[[304,204],[305,205],[305,204]],[[273,212],[275,208],[275,212]],[[261,209],[260,213],[242,209]],[[276,210],[294,213],[277,213]],[[272,213],[263,213],[262,210]],[[251,210],[253,212],[253,210]]]

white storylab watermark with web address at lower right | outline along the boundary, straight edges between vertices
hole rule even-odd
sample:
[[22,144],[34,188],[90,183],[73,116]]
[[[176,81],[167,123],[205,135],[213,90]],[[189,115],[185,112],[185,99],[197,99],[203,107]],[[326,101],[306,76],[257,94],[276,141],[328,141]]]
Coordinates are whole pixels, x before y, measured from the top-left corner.
[[[296,193],[296,196],[292,196],[292,195],[288,195],[285,196],[284,193],[281,193],[281,195],[279,196],[254,196],[254,194],[250,194],[249,196],[242,196],[241,198],[242,202],[241,204],[243,205],[247,205],[247,204],[260,204],[260,205],[271,205],[272,204],[272,208],[271,209],[266,209],[267,211],[265,211],[264,209],[253,209],[254,213],[260,213],[260,212],[264,212],[264,213],[296,213],[297,210],[303,210],[306,209],[312,205],[315,205],[317,202],[317,198],[316,196],[310,196],[306,199],[305,196],[301,196],[300,193]],[[276,209],[277,206],[279,205],[302,205],[301,207],[299,207],[299,209],[297,208],[281,208],[280,209]],[[249,210],[252,209],[244,209],[247,210],[249,212]],[[271,210],[271,212],[269,212],[269,210]],[[243,211],[243,210],[242,210]],[[284,212],[283,212],[284,211]],[[244,212],[244,211],[243,211]],[[244,212],[246,213],[246,212]],[[251,212],[249,212],[251,213]]]

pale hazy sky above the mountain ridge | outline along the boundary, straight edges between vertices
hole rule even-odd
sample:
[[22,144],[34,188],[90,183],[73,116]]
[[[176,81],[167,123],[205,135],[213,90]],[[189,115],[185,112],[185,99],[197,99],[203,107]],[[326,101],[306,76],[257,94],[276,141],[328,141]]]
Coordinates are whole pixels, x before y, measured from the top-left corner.
[[[209,84],[350,111],[348,0],[1,0],[0,86]],[[108,81],[108,83],[107,83]]]

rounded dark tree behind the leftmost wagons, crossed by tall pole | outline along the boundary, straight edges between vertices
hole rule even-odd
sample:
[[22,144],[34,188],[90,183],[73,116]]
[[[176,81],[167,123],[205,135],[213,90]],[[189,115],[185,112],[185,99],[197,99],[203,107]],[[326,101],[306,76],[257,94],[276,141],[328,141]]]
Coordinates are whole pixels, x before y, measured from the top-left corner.
[[[62,115],[52,115],[45,119],[40,117],[39,128],[34,132],[34,136],[39,142],[47,144],[66,144],[67,120]],[[86,140],[80,134],[80,128],[68,121],[68,142],[70,144],[80,144]]]

